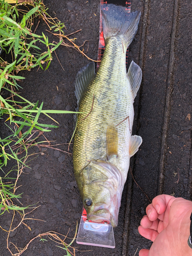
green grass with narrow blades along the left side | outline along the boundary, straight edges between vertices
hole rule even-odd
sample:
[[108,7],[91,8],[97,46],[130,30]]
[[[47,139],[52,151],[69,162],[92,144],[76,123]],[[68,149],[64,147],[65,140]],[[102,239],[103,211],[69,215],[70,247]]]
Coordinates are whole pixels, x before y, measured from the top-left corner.
[[[50,30],[64,33],[62,29],[65,25],[56,18],[51,18],[47,10],[48,8],[41,1],[31,1],[28,5],[26,3],[11,5],[4,0],[0,3],[0,46],[9,59],[6,61],[0,57],[0,119],[4,120],[4,125],[7,130],[10,130],[8,137],[0,137],[0,171],[4,174],[3,177],[0,176],[0,215],[5,211],[27,208],[15,204],[21,197],[15,193],[16,183],[24,167],[27,166],[29,146],[26,146],[26,141],[31,143],[30,146],[33,145],[31,135],[34,129],[39,132],[49,132],[58,127],[41,123],[40,114],[55,121],[48,114],[74,113],[43,110],[43,102],[30,102],[16,93],[20,89],[18,81],[25,79],[18,74],[19,71],[30,71],[35,67],[48,69],[53,59],[52,53],[62,42],[61,40],[58,44],[53,44],[44,33],[37,35],[32,32],[34,20],[38,17],[45,20]],[[42,52],[37,46],[38,43],[44,44],[47,50]],[[9,93],[11,97],[4,98],[3,92]],[[20,152],[24,152],[24,156],[20,156]],[[5,172],[8,161],[16,163],[17,178],[15,179],[10,178],[13,169]]]

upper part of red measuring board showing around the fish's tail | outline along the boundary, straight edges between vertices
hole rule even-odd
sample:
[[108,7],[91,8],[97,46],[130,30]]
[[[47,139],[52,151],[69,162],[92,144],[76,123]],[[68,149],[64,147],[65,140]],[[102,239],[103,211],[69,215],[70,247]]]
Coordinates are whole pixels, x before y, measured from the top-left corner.
[[[126,7],[127,12],[131,12],[131,1],[125,1],[125,0],[108,0],[108,1],[103,1],[101,0],[101,5],[106,5],[106,4],[114,4],[114,5],[119,5]],[[99,26],[99,48],[98,48],[98,56],[97,60],[101,60],[102,56],[104,53],[104,37],[103,37],[103,28],[102,28],[102,15],[101,15],[101,8],[100,8],[100,26]],[[128,64],[128,53],[129,53],[129,48],[126,51],[126,69],[127,69],[127,64]],[[97,62],[97,69],[99,68],[100,62]]]

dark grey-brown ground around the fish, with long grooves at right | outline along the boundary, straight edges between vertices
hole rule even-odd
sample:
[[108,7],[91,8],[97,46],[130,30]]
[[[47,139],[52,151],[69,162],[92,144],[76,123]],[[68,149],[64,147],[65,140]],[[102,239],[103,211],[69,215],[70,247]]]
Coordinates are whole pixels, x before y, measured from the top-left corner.
[[[87,55],[97,59],[99,38],[99,0],[49,1],[49,14],[58,17],[67,28],[66,34],[75,34],[78,45],[89,40]],[[141,248],[149,248],[151,242],[141,238],[137,231],[145,207],[156,195],[165,193],[192,199],[191,190],[191,0],[132,0],[131,10],[140,10],[138,32],[130,47],[129,62],[134,60],[142,68],[143,78],[135,99],[135,123],[133,134],[140,135],[143,143],[132,157],[131,171],[125,184],[119,212],[119,224],[114,229],[116,248],[99,248],[77,245],[76,255],[138,255]],[[46,32],[40,22],[37,33],[43,31],[50,41],[57,40]],[[72,37],[71,37],[72,38]],[[34,69],[24,72],[26,79],[20,83],[21,94],[31,102],[44,102],[44,109],[71,110],[76,108],[74,81],[76,73],[89,60],[72,48],[59,47],[47,71]],[[52,123],[41,116],[44,123]],[[73,133],[73,116],[54,115],[59,128],[47,133],[54,143],[69,143]],[[1,126],[1,137],[8,131]],[[44,138],[41,138],[44,140]],[[63,151],[67,145],[61,145]],[[30,153],[39,152],[32,148]],[[70,146],[72,153],[72,145]],[[31,231],[21,225],[11,233],[10,243],[24,248],[30,239],[50,230],[73,237],[76,222],[79,223],[82,203],[75,182],[72,155],[50,148],[44,149],[30,162],[19,180],[18,193],[24,205],[41,205],[26,220]],[[146,195],[147,197],[146,197]],[[0,217],[1,226],[8,228],[11,214]],[[15,219],[19,221],[17,216]],[[0,255],[8,256],[6,232],[0,230]],[[47,238],[46,238],[47,239]],[[49,239],[47,239],[49,240]],[[61,256],[65,251],[54,242],[33,241],[24,256]],[[13,246],[10,244],[13,252]],[[137,250],[138,248],[138,250]],[[85,250],[90,250],[86,252]],[[137,250],[137,252],[136,252]]]

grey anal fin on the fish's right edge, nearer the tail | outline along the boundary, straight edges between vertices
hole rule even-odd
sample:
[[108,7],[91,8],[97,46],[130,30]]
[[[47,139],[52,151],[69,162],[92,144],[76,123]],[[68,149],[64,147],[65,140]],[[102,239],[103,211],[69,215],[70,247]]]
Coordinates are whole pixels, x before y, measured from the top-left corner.
[[135,99],[141,84],[142,71],[134,61],[131,62],[130,68],[127,72],[127,77],[130,80],[133,98]]

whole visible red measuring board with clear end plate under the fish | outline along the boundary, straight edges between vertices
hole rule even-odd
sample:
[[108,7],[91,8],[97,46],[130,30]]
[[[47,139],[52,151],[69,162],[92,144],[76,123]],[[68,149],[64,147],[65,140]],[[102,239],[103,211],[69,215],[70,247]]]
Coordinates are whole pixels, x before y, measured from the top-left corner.
[[[125,0],[101,0],[100,6],[106,4],[114,4],[125,7],[125,10],[129,13],[131,12],[131,1]],[[104,8],[104,6],[103,6]],[[102,15],[100,8],[100,26],[99,26],[99,47],[98,47],[98,57],[97,60],[101,60],[104,53],[104,38],[103,38],[103,29],[102,29]],[[126,51],[126,69],[128,63],[128,52],[129,48]],[[99,68],[100,62],[97,62],[97,69]],[[87,219],[86,209],[82,209],[81,220],[79,224],[79,230],[76,239],[77,244],[84,245],[94,245],[107,248],[115,248],[115,239],[113,227],[110,221],[103,221],[101,223],[96,223],[89,221]]]

